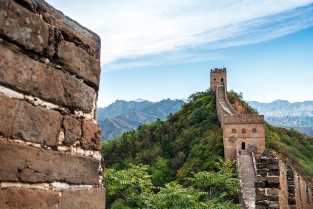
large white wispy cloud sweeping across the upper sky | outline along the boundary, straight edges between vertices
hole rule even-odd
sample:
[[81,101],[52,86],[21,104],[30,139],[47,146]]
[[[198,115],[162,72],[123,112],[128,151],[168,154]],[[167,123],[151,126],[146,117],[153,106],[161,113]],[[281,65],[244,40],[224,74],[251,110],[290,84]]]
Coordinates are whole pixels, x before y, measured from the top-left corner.
[[[161,59],[207,59],[203,50],[260,42],[313,25],[313,0],[91,2],[75,1],[63,11],[100,35],[101,62],[108,70]],[[136,60],[140,57],[148,58]]]

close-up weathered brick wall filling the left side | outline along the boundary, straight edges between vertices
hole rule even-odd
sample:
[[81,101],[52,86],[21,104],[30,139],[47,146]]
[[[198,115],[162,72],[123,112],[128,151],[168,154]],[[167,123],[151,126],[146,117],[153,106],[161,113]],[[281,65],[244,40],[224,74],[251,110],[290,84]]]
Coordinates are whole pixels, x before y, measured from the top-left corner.
[[0,0],[0,208],[104,208],[100,39],[43,0]]

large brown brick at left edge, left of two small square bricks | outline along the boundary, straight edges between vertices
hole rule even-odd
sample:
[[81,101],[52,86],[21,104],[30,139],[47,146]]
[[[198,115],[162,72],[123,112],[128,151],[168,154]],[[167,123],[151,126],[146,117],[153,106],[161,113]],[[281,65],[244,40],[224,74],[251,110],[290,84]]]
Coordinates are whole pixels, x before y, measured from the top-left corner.
[[59,112],[0,93],[0,133],[6,137],[55,146],[62,116]]

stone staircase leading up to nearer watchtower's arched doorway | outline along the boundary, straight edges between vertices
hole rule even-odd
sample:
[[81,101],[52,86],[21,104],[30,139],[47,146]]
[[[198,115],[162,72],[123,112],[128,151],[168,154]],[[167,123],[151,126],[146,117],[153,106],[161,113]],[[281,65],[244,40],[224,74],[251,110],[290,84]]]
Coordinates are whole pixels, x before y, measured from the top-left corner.
[[251,153],[241,150],[239,154],[239,172],[242,196],[245,208],[255,208],[255,170]]

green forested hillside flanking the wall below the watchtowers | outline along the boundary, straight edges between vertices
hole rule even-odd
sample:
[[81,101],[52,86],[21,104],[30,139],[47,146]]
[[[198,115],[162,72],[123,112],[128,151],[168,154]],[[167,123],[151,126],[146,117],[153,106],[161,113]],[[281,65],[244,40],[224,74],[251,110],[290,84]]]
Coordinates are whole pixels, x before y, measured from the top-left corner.
[[[242,95],[227,93],[235,108],[246,113],[255,111],[242,100]],[[272,148],[281,159],[307,180],[313,177],[313,138],[293,129],[273,127],[265,124],[266,147]],[[181,109],[151,124],[142,124],[136,130],[123,133],[111,141],[104,141],[102,155],[107,168],[123,170],[129,163],[150,165],[147,173],[155,186],[164,186],[175,181],[183,186],[190,182],[191,171],[217,171],[219,159],[223,158],[222,129],[217,120],[215,96],[210,91],[197,92],[189,96],[189,102]],[[205,191],[205,188],[202,188]],[[121,201],[122,196],[107,199],[107,206]],[[236,199],[228,193],[221,201]],[[114,203],[113,203],[114,204]]]

